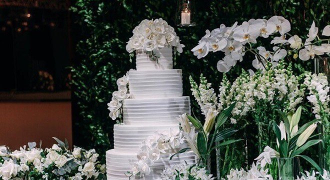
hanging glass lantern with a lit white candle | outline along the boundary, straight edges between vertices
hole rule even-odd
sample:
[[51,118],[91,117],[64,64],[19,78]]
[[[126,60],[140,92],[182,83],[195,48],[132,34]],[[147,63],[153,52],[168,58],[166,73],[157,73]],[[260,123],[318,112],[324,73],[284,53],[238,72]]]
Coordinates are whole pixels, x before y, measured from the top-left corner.
[[179,27],[190,27],[195,26],[193,22],[194,11],[193,11],[192,0],[178,0],[175,23]]

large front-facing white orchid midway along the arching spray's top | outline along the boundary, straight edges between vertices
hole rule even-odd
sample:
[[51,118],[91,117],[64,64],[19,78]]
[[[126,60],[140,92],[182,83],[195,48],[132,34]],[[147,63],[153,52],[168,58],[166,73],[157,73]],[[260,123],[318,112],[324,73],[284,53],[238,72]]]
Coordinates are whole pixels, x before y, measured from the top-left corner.
[[243,44],[246,42],[256,43],[256,38],[258,36],[258,26],[255,24],[250,25],[246,21],[244,21],[242,25],[238,26],[232,34],[232,37],[235,40],[242,42]]

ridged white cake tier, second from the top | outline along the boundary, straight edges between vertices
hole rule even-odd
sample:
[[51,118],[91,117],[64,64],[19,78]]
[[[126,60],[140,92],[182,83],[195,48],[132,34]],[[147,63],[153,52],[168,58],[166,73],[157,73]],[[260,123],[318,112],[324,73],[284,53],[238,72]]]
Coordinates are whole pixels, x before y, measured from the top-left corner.
[[129,92],[132,98],[182,96],[181,69],[129,71]]

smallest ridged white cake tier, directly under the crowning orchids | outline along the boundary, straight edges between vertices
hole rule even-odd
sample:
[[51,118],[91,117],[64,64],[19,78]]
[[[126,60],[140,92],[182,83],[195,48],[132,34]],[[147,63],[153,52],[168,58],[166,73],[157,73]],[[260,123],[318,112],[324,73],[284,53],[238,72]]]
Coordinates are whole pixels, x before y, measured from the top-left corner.
[[[172,69],[172,48],[162,47],[147,54],[143,50],[136,50],[136,70]],[[154,56],[153,59],[151,56]]]

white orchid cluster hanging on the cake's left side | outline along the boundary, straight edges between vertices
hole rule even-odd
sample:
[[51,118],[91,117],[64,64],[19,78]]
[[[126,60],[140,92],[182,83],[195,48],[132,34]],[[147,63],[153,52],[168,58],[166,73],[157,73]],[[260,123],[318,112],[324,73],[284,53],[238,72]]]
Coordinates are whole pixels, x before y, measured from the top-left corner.
[[127,88],[128,77],[129,75],[126,73],[126,75],[117,79],[118,90],[112,92],[111,101],[107,103],[107,109],[110,110],[109,116],[112,118],[112,120],[120,117],[122,113],[122,100],[130,97],[129,90]]

